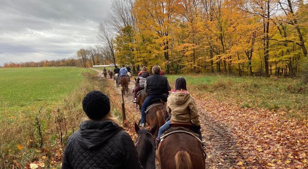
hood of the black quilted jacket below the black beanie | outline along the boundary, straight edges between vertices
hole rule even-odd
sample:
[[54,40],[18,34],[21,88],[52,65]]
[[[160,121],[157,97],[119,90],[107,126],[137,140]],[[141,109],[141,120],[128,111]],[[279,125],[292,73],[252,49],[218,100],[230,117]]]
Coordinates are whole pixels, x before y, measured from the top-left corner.
[[119,126],[112,121],[87,120],[80,124],[77,140],[87,149],[95,149],[107,142],[119,131]]

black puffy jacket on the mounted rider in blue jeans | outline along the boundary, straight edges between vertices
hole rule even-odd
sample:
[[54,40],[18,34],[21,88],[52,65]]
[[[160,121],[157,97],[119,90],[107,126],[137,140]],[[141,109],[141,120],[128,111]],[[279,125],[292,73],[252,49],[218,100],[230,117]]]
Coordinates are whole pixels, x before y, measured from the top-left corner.
[[166,76],[153,74],[146,78],[145,92],[147,95],[169,94],[170,90]]

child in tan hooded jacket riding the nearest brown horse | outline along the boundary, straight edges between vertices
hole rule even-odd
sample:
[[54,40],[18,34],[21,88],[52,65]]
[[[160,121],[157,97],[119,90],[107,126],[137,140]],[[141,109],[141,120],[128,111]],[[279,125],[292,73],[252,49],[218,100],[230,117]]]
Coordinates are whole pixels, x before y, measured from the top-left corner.
[[184,77],[176,79],[176,90],[173,90],[168,97],[167,111],[171,114],[171,119],[159,129],[158,142],[160,141],[160,136],[170,129],[171,122],[191,124],[190,130],[199,134],[199,139],[202,140],[198,110],[194,98],[187,92]]

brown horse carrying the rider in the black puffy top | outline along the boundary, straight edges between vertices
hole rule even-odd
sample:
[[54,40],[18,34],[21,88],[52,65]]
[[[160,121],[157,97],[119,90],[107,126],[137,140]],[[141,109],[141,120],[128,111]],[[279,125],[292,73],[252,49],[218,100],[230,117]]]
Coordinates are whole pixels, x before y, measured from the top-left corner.
[[157,138],[159,128],[165,124],[163,109],[164,102],[162,104],[157,104],[151,107],[146,115],[146,122],[150,126],[150,129],[153,129],[155,126],[157,126],[157,129],[153,134],[155,138]]

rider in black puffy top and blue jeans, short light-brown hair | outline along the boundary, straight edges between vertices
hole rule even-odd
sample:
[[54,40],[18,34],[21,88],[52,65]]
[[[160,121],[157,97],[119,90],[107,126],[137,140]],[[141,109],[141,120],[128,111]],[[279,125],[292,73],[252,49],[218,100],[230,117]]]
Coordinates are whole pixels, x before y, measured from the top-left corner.
[[160,66],[153,66],[153,75],[147,77],[144,83],[144,89],[147,94],[147,97],[144,100],[141,108],[140,126],[145,126],[145,111],[146,108],[151,104],[151,101],[156,98],[161,98],[166,101],[169,91],[171,90],[167,77],[160,75],[160,71]]

